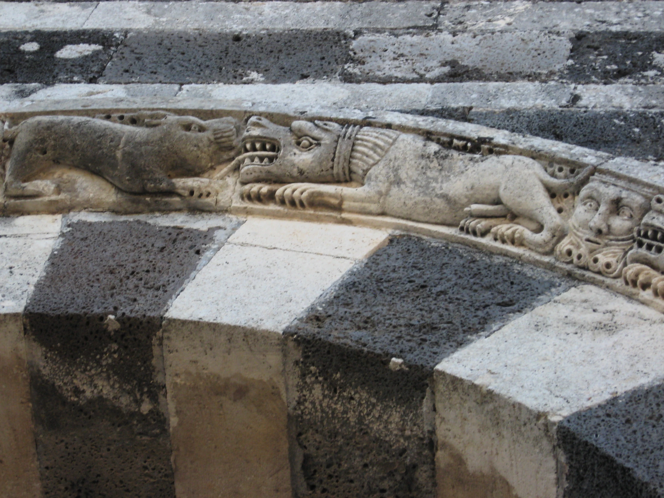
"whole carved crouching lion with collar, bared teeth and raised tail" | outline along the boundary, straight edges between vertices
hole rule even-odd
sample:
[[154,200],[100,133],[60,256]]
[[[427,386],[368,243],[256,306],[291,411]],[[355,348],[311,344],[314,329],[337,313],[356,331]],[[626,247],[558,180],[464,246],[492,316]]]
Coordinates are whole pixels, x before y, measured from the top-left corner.
[[556,179],[527,157],[463,153],[391,129],[305,121],[288,128],[261,117],[249,120],[234,163],[248,184],[242,189],[248,201],[446,225],[478,222],[477,234],[493,228],[496,238],[542,253],[565,234],[550,192],[576,191],[593,173],[588,167]]

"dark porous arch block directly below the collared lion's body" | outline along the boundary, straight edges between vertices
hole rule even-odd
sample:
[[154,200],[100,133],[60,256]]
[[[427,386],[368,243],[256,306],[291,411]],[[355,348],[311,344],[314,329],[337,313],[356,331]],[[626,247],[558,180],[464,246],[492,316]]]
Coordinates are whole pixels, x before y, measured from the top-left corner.
[[479,250],[392,239],[286,330],[297,496],[433,497],[434,366],[569,286]]

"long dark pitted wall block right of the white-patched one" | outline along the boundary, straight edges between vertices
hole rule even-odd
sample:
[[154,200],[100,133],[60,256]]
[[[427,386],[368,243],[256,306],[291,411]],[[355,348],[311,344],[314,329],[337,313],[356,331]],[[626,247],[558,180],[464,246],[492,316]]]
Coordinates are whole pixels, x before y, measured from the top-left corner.
[[131,33],[108,64],[105,83],[289,83],[335,76],[347,62],[349,35]]

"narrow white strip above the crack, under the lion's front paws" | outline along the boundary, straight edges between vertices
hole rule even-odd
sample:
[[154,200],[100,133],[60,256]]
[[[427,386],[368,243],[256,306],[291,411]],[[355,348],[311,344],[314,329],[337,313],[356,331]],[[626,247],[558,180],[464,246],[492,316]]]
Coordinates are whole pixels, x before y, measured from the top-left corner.
[[228,242],[358,260],[386,244],[388,236],[357,226],[249,218]]

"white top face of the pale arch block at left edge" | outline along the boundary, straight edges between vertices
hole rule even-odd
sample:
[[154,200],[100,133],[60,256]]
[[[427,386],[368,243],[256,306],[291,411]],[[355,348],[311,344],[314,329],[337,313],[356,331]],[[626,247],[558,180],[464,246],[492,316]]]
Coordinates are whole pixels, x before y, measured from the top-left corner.
[[60,215],[0,218],[0,313],[22,313],[60,231]]

